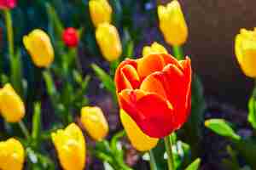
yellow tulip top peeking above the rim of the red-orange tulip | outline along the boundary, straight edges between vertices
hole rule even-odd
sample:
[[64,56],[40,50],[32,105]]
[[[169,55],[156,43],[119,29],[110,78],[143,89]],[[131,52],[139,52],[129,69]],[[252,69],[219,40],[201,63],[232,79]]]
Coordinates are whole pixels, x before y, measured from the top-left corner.
[[143,57],[149,54],[168,54],[166,48],[158,42],[153,42],[151,46],[143,48]]

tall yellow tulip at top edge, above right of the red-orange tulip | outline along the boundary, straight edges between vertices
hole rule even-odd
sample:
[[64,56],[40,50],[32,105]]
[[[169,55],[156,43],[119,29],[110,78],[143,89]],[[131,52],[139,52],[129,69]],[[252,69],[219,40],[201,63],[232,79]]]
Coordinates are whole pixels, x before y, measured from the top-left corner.
[[158,7],[160,31],[166,42],[172,46],[183,45],[188,38],[188,26],[183,16],[183,11],[177,0],[173,0],[166,6]]

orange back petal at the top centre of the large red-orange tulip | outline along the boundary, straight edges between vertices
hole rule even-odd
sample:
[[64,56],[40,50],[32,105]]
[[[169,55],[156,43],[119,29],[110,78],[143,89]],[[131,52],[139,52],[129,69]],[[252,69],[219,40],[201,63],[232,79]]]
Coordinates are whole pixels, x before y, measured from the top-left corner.
[[164,66],[165,61],[160,54],[150,54],[138,59],[137,72],[143,79],[155,71],[161,71]]

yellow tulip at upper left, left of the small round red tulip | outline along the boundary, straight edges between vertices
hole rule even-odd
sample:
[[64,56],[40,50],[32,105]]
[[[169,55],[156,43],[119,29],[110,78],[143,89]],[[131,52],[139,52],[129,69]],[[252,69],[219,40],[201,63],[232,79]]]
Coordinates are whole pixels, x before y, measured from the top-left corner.
[[36,29],[23,37],[26,50],[32,57],[34,65],[48,67],[54,60],[54,49],[49,36],[42,30]]

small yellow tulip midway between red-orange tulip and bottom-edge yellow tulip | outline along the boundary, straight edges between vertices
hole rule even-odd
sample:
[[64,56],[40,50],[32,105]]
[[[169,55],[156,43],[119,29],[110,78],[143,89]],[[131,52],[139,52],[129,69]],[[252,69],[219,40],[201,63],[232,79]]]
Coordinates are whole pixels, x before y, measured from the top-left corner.
[[92,139],[101,141],[108,134],[108,122],[99,107],[83,107],[81,122]]

